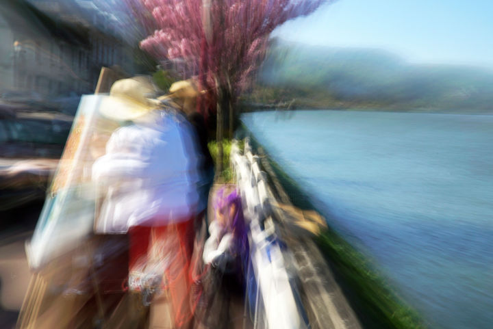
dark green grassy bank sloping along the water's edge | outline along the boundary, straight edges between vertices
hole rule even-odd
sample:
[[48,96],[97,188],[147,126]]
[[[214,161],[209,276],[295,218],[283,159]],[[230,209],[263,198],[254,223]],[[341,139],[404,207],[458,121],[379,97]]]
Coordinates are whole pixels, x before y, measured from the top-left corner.
[[[244,135],[249,134],[246,127],[242,129]],[[262,149],[253,136],[251,141],[253,148]],[[268,154],[264,157],[292,204],[300,209],[317,210],[301,187]],[[271,185],[275,185],[270,179]],[[375,329],[426,328],[418,313],[399,298],[368,256],[356,250],[331,228],[330,218],[327,223],[329,227],[315,238],[316,243],[362,326]]]

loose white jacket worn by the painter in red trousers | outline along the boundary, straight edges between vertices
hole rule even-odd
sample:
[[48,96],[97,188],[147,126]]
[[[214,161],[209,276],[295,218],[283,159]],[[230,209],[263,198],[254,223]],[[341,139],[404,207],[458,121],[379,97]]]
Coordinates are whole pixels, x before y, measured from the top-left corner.
[[148,116],[146,123],[114,131],[106,154],[92,166],[92,179],[105,194],[97,233],[182,222],[195,214],[199,177],[190,124],[165,111]]

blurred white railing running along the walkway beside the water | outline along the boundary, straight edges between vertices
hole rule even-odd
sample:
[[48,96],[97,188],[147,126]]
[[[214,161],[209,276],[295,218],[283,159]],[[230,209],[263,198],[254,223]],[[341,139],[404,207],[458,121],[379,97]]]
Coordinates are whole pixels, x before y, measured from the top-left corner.
[[249,269],[252,273],[248,273],[247,278],[255,276],[254,328],[307,328],[303,306],[295,298],[297,288],[286,269],[287,251],[280,244],[270,218],[270,202],[274,200],[270,197],[273,194],[269,190],[266,173],[261,170],[259,158],[253,155],[248,139],[245,140],[243,154],[238,142],[233,141],[230,159],[249,225]]

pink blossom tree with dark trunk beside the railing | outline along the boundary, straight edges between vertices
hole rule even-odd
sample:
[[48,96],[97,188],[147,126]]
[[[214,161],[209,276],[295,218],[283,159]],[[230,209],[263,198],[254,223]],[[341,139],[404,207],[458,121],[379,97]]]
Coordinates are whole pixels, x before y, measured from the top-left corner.
[[[157,60],[175,60],[204,90],[200,111],[216,107],[218,166],[223,159],[223,116],[249,86],[270,32],[333,0],[127,0],[150,35],[140,47]],[[214,106],[215,105],[215,106]],[[222,168],[217,168],[218,172]]]

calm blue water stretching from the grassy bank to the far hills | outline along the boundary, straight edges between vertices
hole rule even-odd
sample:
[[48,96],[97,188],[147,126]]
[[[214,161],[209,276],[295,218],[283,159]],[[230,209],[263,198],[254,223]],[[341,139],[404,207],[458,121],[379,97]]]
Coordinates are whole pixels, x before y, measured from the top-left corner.
[[493,116],[244,114],[432,328],[493,328]]

